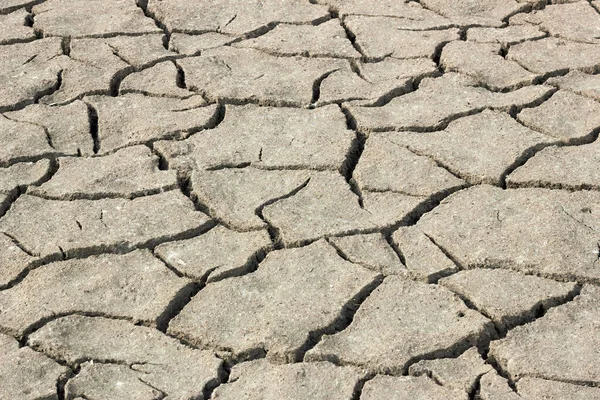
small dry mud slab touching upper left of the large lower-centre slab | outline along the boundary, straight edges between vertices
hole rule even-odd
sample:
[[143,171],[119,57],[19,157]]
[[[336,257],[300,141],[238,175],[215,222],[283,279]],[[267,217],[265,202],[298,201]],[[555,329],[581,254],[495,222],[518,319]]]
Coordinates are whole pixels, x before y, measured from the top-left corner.
[[154,253],[187,277],[213,282],[246,272],[271,246],[266,230],[239,233],[217,226],[192,239],[161,244]]

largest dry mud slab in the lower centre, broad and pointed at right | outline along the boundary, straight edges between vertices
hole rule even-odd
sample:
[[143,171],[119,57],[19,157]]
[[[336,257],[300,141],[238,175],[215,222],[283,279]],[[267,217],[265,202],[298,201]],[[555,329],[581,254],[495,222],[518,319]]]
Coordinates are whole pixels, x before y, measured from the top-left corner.
[[266,353],[298,361],[307,341],[334,331],[377,278],[325,241],[271,252],[256,272],[207,285],[171,321],[169,333],[236,358]]

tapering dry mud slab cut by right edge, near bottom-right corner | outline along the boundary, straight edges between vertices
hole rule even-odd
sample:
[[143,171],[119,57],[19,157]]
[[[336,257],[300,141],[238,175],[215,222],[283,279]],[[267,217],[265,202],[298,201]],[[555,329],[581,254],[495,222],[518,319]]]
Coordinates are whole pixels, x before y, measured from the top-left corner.
[[489,355],[513,380],[533,377],[597,386],[599,310],[600,291],[584,286],[572,302],[493,341]]

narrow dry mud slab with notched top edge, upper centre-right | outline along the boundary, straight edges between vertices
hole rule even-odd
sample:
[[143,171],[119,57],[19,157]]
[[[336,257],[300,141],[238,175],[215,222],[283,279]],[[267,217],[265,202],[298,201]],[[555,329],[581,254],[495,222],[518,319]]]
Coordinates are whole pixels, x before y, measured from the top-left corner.
[[361,63],[358,69],[359,72],[339,70],[328,75],[321,82],[317,104],[363,100],[378,105],[411,91],[413,83],[437,73],[437,66],[427,58],[386,58],[377,63]]

